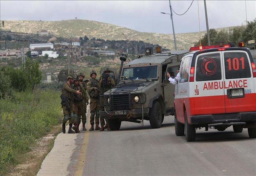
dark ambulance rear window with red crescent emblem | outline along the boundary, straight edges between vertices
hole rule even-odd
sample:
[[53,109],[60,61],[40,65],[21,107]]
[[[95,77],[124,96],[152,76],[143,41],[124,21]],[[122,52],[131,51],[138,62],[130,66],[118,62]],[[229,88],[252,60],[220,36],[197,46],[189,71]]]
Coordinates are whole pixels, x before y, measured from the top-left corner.
[[196,62],[196,81],[221,79],[220,53],[199,56]]

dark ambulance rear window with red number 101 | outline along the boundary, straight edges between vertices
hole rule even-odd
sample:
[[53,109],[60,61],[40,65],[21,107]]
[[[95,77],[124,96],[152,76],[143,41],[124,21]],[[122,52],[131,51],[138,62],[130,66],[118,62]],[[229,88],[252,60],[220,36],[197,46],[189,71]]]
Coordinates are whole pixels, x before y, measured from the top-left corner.
[[226,79],[251,77],[251,69],[244,52],[224,52]]

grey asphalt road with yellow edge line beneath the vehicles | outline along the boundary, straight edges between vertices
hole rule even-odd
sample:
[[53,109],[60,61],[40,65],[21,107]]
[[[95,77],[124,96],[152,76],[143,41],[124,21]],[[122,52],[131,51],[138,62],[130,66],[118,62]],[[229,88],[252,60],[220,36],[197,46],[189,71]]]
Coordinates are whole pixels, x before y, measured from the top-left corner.
[[68,135],[76,139],[67,175],[256,175],[256,140],[247,129],[196,130],[196,141],[186,142],[167,116],[159,129],[122,122],[119,131]]

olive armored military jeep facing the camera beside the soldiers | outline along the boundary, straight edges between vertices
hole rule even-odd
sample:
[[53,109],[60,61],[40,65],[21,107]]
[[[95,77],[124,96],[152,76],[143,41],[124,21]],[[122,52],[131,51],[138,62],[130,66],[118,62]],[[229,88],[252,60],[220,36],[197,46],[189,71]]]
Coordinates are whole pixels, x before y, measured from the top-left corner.
[[164,116],[174,114],[175,85],[170,84],[166,72],[176,76],[180,59],[188,51],[154,54],[152,50],[146,48],[145,55],[123,68],[122,61],[117,85],[100,97],[104,106],[100,117],[109,119],[111,130],[119,130],[122,121],[143,123],[143,120],[149,120],[152,128],[160,128]]

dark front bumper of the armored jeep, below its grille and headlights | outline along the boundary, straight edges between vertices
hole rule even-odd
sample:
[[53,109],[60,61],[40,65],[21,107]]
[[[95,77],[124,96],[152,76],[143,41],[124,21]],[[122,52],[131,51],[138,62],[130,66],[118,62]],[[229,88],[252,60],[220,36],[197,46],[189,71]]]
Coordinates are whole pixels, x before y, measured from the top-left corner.
[[[112,118],[139,118],[142,117],[142,109],[129,109],[126,110],[127,114],[125,115],[114,115],[114,111],[100,111],[100,117],[104,119]],[[143,108],[143,116],[148,116],[149,108]]]

